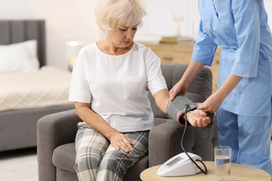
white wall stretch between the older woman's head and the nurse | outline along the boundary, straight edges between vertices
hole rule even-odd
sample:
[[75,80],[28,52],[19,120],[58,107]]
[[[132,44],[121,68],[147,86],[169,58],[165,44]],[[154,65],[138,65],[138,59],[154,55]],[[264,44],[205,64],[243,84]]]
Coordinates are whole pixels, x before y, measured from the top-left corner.
[[158,42],[161,36],[196,36],[199,21],[196,0],[144,0],[144,3],[147,15],[136,40]]

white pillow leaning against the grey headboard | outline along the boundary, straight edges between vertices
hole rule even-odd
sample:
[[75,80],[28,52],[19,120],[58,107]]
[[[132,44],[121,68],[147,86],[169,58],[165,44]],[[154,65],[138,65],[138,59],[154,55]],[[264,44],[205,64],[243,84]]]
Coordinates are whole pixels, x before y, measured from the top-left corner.
[[0,73],[38,70],[39,65],[36,40],[0,45]]

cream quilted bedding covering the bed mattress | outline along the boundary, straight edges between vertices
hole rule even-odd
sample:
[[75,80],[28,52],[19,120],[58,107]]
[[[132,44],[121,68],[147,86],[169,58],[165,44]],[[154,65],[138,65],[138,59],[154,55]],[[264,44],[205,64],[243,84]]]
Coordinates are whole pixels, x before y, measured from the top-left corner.
[[70,77],[71,72],[50,66],[0,74],[0,111],[73,104],[68,102]]

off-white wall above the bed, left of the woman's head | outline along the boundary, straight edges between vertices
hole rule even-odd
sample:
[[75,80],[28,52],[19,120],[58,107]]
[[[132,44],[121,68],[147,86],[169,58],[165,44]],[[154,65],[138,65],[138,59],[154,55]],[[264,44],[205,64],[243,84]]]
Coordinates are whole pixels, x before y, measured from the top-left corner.
[[99,0],[0,0],[0,19],[45,19],[47,64],[68,68],[66,41],[98,40],[93,15]]

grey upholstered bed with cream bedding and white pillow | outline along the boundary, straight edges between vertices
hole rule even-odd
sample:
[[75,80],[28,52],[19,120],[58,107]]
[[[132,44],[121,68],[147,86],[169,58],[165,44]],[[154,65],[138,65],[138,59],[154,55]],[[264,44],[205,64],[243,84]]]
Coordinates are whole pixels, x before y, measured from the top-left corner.
[[45,20],[0,20],[0,151],[36,147],[38,119],[74,108],[71,72],[46,65],[45,50]]

